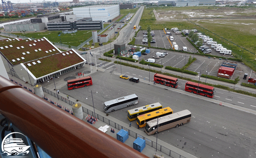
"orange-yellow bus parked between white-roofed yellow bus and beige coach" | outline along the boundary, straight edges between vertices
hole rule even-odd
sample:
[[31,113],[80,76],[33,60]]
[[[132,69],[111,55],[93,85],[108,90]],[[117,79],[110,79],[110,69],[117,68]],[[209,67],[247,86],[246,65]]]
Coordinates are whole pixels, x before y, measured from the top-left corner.
[[145,127],[147,121],[153,120],[158,117],[166,116],[172,114],[172,109],[170,107],[165,107],[163,109],[156,110],[154,112],[149,112],[147,114],[142,114],[140,116],[137,116],[137,125],[139,125],[140,128]]

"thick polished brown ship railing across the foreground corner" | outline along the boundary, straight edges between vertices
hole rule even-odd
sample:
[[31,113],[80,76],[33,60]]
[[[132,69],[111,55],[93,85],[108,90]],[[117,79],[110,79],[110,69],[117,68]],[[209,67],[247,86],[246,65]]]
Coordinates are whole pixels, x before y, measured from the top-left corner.
[[0,113],[52,158],[148,158],[2,76]]

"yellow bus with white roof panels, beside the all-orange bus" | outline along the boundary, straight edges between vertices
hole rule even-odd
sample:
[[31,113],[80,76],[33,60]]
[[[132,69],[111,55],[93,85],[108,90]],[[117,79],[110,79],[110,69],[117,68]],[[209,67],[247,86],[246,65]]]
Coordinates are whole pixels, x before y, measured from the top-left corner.
[[145,105],[143,107],[137,107],[135,109],[128,110],[127,117],[129,121],[134,121],[136,120],[137,116],[140,116],[142,114],[146,114],[149,112],[153,112],[162,108],[163,108],[162,105],[159,102],[156,102],[154,104]]

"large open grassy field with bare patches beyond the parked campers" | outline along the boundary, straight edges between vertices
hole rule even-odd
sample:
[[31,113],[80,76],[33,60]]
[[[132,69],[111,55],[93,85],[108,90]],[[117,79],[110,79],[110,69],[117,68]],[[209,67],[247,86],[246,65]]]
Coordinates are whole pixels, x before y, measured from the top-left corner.
[[155,7],[144,9],[142,30],[177,27],[197,29],[219,44],[232,50],[247,66],[256,70],[256,8],[255,7]]

